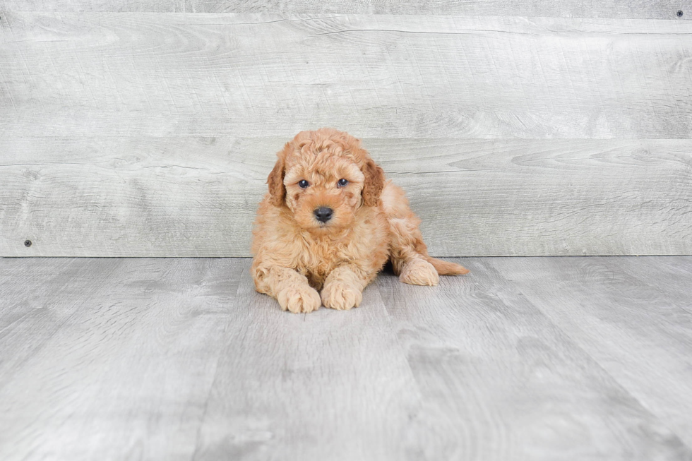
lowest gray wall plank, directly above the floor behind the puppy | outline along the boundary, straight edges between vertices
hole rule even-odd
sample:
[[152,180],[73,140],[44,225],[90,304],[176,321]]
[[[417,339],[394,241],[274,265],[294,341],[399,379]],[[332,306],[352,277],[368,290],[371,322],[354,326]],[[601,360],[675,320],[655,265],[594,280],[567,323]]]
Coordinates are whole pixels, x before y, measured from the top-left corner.
[[[0,138],[0,255],[249,256],[286,140]],[[363,142],[435,255],[692,253],[691,140]]]

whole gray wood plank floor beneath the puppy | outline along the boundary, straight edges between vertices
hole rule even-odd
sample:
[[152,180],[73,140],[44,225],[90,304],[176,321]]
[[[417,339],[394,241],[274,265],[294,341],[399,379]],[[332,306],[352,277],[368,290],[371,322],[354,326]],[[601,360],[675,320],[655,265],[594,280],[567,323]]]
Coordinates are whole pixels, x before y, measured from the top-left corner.
[[0,459],[692,459],[692,257],[463,258],[307,315],[249,261],[0,259]]

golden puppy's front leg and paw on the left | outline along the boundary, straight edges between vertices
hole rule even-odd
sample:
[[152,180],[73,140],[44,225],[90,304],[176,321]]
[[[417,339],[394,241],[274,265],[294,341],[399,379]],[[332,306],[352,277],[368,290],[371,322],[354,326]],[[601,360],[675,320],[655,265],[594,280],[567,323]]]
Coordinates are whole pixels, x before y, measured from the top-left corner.
[[294,269],[253,264],[252,277],[257,291],[275,297],[284,311],[312,312],[322,304],[316,289]]

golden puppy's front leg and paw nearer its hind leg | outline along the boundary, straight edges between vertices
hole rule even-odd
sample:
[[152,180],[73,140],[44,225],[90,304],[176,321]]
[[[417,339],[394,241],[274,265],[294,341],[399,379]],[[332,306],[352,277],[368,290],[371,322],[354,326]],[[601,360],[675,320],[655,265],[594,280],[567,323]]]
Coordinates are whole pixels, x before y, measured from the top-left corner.
[[322,303],[340,311],[357,307],[363,300],[363,289],[375,275],[376,272],[366,273],[354,265],[340,265],[324,281]]

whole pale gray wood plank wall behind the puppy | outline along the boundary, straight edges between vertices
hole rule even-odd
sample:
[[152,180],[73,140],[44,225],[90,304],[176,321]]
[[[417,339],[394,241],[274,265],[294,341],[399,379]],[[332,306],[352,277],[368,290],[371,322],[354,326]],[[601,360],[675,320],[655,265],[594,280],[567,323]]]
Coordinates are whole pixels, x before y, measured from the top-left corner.
[[0,256],[248,256],[275,152],[321,126],[364,140],[436,255],[692,254],[690,18],[0,0]]

